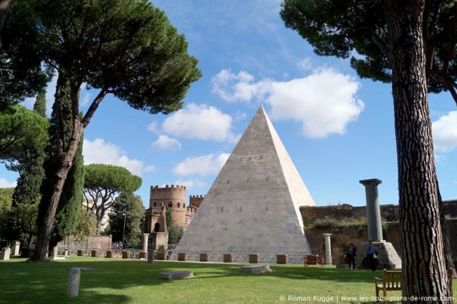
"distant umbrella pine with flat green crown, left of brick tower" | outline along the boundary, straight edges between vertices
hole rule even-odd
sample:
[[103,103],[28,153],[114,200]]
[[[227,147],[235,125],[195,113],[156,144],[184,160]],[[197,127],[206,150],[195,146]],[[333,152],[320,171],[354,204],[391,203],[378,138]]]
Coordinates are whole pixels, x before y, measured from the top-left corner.
[[141,178],[119,166],[94,163],[84,168],[84,206],[94,212],[100,233],[101,220],[106,211],[116,203],[116,195],[136,191],[141,186]]

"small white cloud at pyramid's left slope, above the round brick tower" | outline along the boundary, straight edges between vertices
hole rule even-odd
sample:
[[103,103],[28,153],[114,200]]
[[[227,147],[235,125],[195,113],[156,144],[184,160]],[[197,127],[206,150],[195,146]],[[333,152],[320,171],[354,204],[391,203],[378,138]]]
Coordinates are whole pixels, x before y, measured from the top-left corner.
[[173,168],[177,176],[208,176],[217,174],[229,159],[229,153],[208,154],[204,156],[188,157]]

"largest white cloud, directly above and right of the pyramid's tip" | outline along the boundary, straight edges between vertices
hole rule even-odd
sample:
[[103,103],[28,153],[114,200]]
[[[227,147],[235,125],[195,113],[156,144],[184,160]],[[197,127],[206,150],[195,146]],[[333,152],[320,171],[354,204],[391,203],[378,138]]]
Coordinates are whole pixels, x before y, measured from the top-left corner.
[[360,83],[333,69],[315,69],[291,81],[253,79],[245,71],[236,75],[222,70],[213,78],[213,91],[226,101],[265,101],[271,106],[271,118],[300,122],[310,138],[346,133],[347,124],[356,121],[364,108],[356,98]]

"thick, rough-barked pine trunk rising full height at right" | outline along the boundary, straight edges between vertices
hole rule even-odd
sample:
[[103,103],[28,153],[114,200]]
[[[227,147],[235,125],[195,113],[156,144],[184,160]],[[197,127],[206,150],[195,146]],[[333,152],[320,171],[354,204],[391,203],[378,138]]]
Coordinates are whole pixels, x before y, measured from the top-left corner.
[[393,72],[402,291],[405,297],[436,297],[441,303],[449,303],[452,301],[446,299],[450,293],[428,113],[422,32],[424,2],[382,1]]

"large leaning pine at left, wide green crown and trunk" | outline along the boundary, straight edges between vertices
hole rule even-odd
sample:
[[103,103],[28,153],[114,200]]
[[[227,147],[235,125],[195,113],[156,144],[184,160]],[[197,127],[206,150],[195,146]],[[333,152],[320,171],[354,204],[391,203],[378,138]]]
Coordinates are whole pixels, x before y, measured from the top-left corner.
[[[170,113],[181,108],[190,84],[201,73],[197,60],[187,53],[184,36],[146,0],[13,1],[5,22],[6,49],[37,54],[70,83],[71,143],[68,148],[59,146],[54,191],[43,196],[40,210],[46,212],[39,213],[36,258],[43,259],[76,148],[106,94],[113,93],[133,108]],[[83,83],[100,91],[81,119],[77,95]],[[64,141],[61,119],[56,134]]]

